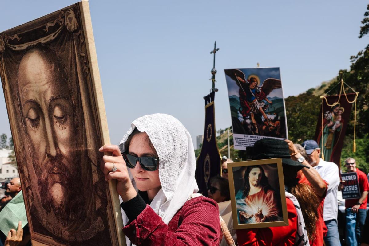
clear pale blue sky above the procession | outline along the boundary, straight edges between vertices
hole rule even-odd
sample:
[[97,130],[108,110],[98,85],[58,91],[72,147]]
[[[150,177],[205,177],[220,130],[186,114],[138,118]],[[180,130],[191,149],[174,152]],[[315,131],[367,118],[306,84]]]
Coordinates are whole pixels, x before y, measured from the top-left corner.
[[[2,1],[0,31],[75,3]],[[192,138],[204,131],[203,96],[217,52],[215,122],[231,125],[225,68],[280,67],[285,96],[297,95],[349,68],[369,43],[358,39],[368,1],[89,2],[110,139],[149,113],[179,119]],[[3,94],[0,133],[10,136]]]

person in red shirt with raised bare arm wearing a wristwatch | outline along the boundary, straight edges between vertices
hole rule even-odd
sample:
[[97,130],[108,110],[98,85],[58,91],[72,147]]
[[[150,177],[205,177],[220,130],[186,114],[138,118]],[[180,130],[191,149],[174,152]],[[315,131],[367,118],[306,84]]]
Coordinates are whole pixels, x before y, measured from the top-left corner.
[[299,183],[304,183],[313,187],[320,202],[318,207],[318,221],[316,225],[316,233],[310,238],[310,246],[321,246],[324,243],[324,236],[327,235],[327,226],[325,226],[323,218],[324,198],[327,194],[328,184],[320,177],[320,174],[307,162],[308,155],[306,150],[300,144],[293,144],[290,140],[284,140],[290,148],[291,158],[294,161],[302,162],[309,168],[303,168],[297,173]]

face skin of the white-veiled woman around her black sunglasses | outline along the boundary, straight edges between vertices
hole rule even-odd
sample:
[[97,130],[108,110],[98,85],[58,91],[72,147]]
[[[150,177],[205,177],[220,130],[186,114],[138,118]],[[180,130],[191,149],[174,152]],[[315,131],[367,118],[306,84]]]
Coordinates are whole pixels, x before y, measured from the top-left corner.
[[[139,133],[132,137],[128,153],[136,157],[156,157],[149,145],[146,133]],[[136,182],[137,189],[147,191],[150,200],[154,198],[161,189],[159,168],[152,172],[146,171],[137,161],[136,166],[131,168],[130,171]]]

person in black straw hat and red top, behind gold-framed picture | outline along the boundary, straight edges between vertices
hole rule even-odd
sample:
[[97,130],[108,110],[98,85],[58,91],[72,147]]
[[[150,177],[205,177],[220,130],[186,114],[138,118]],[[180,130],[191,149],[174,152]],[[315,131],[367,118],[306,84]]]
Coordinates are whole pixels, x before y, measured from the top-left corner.
[[238,245],[309,245],[315,233],[319,201],[313,188],[298,183],[297,172],[308,168],[290,157],[289,145],[283,140],[263,138],[255,142],[252,159],[282,158],[283,179],[286,189],[288,226],[239,229]]

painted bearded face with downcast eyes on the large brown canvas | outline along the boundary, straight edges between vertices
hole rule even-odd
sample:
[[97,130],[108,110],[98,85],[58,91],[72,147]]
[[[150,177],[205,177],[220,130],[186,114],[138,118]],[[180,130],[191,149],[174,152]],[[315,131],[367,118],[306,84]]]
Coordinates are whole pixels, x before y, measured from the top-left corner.
[[38,187],[33,189],[39,191],[45,210],[52,210],[67,227],[72,223],[71,211],[82,211],[84,206],[80,199],[69,199],[80,186],[82,164],[70,91],[55,59],[49,50],[25,53],[18,70],[18,91],[37,176]]

